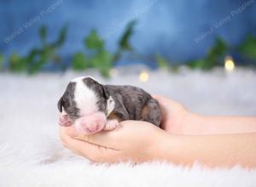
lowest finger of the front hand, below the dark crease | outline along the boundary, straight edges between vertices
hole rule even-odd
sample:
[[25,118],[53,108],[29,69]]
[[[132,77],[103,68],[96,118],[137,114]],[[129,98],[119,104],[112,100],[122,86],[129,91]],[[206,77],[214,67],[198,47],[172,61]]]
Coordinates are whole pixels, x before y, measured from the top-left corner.
[[67,134],[60,131],[60,138],[67,149],[74,153],[88,158],[90,161],[113,162],[119,157],[118,150],[111,150],[96,144],[90,144],[79,139],[73,139]]

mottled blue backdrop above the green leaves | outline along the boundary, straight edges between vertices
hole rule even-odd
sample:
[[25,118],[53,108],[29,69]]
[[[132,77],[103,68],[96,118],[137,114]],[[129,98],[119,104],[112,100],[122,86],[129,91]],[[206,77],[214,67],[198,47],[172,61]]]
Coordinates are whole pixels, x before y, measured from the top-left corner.
[[109,50],[125,25],[137,20],[131,38],[138,53],[160,53],[171,60],[202,57],[216,36],[230,44],[256,34],[255,0],[1,0],[0,53],[26,54],[38,45],[38,27],[49,28],[49,39],[68,24],[68,36],[61,54],[70,57],[84,48],[84,36],[92,28],[107,42]]

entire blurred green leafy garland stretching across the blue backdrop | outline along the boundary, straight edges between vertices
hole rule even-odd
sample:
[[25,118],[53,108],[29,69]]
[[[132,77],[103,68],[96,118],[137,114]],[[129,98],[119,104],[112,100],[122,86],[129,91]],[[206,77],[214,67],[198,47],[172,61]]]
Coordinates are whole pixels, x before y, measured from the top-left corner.
[[[119,38],[117,50],[115,53],[110,53],[105,47],[105,41],[98,35],[96,30],[92,30],[89,36],[84,38],[84,51],[73,54],[72,67],[75,71],[83,71],[88,68],[96,68],[103,77],[109,77],[109,71],[115,63],[121,58],[126,51],[134,52],[131,46],[131,36],[134,33],[136,20],[131,20],[125,31]],[[38,35],[41,45],[38,48],[32,48],[26,56],[21,56],[13,53],[9,57],[9,70],[15,72],[27,71],[28,73],[36,73],[42,69],[47,63],[59,63],[61,57],[57,54],[58,50],[64,44],[67,37],[67,26],[63,26],[59,31],[58,37],[53,42],[48,42],[48,30],[46,26],[41,26]],[[185,62],[191,69],[211,70],[213,67],[223,65],[224,55],[226,55],[231,48],[220,37],[216,38],[212,48],[210,48],[202,59],[193,59]],[[256,37],[249,35],[240,46],[235,49],[249,60],[256,59]],[[142,59],[140,55],[137,58]],[[160,69],[177,71],[178,65],[171,64],[164,56],[156,54],[154,56],[155,62]],[[3,70],[3,55],[0,54],[0,71]]]

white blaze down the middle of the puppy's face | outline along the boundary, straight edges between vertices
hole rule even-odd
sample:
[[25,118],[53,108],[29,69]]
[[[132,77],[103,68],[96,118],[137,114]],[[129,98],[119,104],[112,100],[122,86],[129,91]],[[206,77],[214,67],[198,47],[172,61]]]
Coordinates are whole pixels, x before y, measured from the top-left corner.
[[87,116],[98,111],[96,93],[84,84],[84,78],[78,77],[72,81],[76,82],[74,100],[80,110],[81,116]]

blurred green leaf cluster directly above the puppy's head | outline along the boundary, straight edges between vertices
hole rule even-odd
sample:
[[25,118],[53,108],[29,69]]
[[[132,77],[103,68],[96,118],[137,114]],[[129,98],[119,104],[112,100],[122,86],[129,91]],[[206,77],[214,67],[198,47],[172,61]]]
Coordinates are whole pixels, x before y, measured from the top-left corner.
[[103,77],[109,77],[109,71],[114,63],[121,57],[124,51],[131,50],[130,38],[135,21],[131,21],[125,28],[124,34],[119,39],[119,46],[115,54],[111,54],[105,48],[105,41],[92,30],[84,39],[85,52],[73,55],[73,70],[82,71],[87,68],[96,68]]

